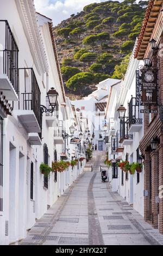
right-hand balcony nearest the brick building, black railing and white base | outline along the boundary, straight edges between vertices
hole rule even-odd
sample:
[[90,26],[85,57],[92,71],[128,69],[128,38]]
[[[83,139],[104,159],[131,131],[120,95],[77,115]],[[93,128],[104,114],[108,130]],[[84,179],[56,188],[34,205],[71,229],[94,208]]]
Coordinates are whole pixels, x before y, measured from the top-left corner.
[[142,118],[139,117],[140,109],[136,105],[136,98],[131,97],[129,102],[129,132],[139,132],[142,127]]

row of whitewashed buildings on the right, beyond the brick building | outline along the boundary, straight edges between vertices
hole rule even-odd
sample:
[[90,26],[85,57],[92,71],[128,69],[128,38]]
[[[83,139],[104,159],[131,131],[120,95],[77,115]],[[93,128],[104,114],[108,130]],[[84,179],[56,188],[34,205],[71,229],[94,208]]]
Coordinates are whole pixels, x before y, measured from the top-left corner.
[[[139,142],[143,137],[143,114],[136,106],[136,70],[141,65],[134,59],[134,50],[124,80],[110,89],[105,111],[108,120],[108,158],[113,160],[110,168],[112,191],[117,191],[134,209],[143,216],[143,169],[141,173],[124,173],[116,166],[116,161],[137,162],[141,155]],[[126,108],[125,117],[118,117],[118,108]]]

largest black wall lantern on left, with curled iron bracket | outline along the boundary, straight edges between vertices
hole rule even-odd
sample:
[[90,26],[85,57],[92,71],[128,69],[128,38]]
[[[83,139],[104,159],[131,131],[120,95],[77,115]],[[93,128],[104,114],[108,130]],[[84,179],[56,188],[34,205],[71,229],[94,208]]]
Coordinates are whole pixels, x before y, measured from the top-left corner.
[[47,96],[48,96],[49,106],[51,106],[51,108],[47,108],[46,106],[40,105],[41,113],[43,112],[53,113],[55,111],[55,106],[57,105],[57,98],[58,98],[57,91],[52,87],[50,90],[48,90]]

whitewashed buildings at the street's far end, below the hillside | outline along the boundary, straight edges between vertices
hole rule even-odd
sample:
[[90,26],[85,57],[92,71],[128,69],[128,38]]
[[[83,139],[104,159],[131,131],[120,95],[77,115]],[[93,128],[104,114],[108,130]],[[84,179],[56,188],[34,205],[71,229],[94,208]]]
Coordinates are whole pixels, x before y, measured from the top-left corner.
[[108,100],[108,93],[113,84],[120,83],[120,80],[108,78],[96,85],[97,90],[84,97],[82,100],[72,101],[76,108],[80,109],[82,118],[88,120],[88,127],[91,131],[92,147],[94,150],[106,150],[104,138],[106,137],[105,107]]

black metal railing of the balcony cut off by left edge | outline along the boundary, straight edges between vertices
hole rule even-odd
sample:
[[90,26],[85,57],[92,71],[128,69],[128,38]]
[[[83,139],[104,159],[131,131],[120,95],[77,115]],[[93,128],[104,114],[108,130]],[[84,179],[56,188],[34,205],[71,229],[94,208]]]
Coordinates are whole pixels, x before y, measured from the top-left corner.
[[3,59],[3,65],[0,65],[0,73],[7,75],[18,95],[18,47],[7,20],[0,20],[0,31],[0,52],[2,52],[2,54],[0,53],[0,59],[1,56]]

